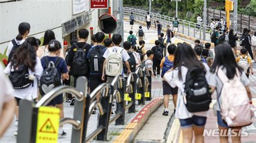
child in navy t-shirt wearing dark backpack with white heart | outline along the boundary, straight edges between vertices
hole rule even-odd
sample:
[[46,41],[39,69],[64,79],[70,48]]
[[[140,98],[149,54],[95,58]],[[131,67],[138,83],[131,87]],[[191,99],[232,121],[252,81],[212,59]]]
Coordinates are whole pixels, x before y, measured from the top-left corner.
[[[48,45],[48,50],[49,50],[49,54],[47,56],[44,56],[41,59],[41,63],[42,66],[44,68],[44,72],[42,75],[42,78],[40,79],[41,81],[41,85],[39,87],[39,89],[42,88],[42,91],[44,92],[44,94],[47,94],[51,89],[49,89],[50,83],[44,83],[42,81],[44,81],[44,79],[46,79],[46,81],[48,81],[47,79],[49,77],[52,78],[52,76],[49,76],[49,73],[51,74],[51,72],[49,72],[50,67],[53,66],[57,69],[58,74],[57,74],[57,81],[54,81],[55,83],[58,82],[59,84],[55,84],[55,87],[62,85],[62,81],[64,81],[66,78],[69,79],[69,74],[68,74],[68,68],[66,66],[66,62],[64,59],[59,57],[60,51],[61,51],[61,44],[59,41],[57,40],[51,40],[49,42]],[[52,65],[53,63],[53,65]],[[44,85],[48,84],[48,88],[44,88]],[[50,84],[50,85],[49,85]],[[55,88],[55,87],[52,87]],[[41,95],[43,96],[42,92]],[[56,108],[60,109],[60,119],[64,118],[64,108],[63,108],[63,94],[55,97],[52,99],[52,101],[48,104],[49,106],[56,106]],[[65,137],[67,135],[66,131],[63,130],[63,127],[59,127],[59,137]]]

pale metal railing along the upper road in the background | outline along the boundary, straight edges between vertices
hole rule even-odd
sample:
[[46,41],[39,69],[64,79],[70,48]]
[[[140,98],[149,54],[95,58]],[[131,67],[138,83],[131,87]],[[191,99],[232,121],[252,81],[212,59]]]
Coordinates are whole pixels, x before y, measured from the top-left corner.
[[[147,11],[140,10],[140,9],[133,9],[133,8],[124,8],[124,15],[129,16],[130,13],[133,12],[134,19],[139,20],[142,22],[145,22],[146,19],[146,13]],[[172,25],[172,22],[174,21],[174,17],[169,17],[165,15],[160,15],[158,13],[150,13],[153,20],[159,20],[161,24],[163,24],[163,27],[166,27],[167,25]],[[205,41],[211,41],[211,35],[215,30],[212,30],[210,26],[208,25],[201,25],[193,22],[189,22],[187,20],[178,19],[179,20],[179,26],[178,26],[178,32],[182,33],[184,35],[197,38],[200,40]],[[237,35],[240,37],[241,33],[237,33]]]

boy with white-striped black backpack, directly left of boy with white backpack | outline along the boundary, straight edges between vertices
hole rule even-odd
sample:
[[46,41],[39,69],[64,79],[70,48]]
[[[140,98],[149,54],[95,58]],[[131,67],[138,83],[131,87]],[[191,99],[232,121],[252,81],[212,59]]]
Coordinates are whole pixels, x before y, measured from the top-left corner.
[[102,71],[103,71],[103,63],[104,57],[103,54],[106,51],[106,47],[102,46],[105,38],[105,34],[103,32],[97,32],[95,35],[96,38],[96,46],[89,49],[87,54],[87,59],[89,60],[90,67],[90,91],[95,90],[99,84],[104,83],[102,80]]

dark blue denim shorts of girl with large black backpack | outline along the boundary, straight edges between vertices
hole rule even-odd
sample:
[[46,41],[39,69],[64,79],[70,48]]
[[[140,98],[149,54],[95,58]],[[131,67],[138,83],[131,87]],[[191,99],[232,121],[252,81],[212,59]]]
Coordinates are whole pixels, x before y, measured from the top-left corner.
[[198,127],[204,127],[207,117],[193,115],[191,118],[179,119],[181,128],[189,128],[193,125]]

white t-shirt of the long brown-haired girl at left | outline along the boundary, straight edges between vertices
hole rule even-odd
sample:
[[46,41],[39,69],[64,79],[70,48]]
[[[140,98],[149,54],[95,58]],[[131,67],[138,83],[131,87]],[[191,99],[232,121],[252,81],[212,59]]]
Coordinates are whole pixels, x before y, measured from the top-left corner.
[[[10,74],[10,71],[11,71],[11,63],[9,63],[8,66],[4,69],[4,73]],[[43,67],[41,64],[41,60],[37,57],[35,71],[31,71],[29,69],[29,74],[34,75],[36,77],[35,80],[33,81],[33,84],[31,84],[30,87],[28,88],[14,89],[14,96],[17,98],[21,98],[21,99],[26,98],[30,100],[37,98],[37,87],[38,87],[37,79],[40,79],[42,73],[43,73]]]

